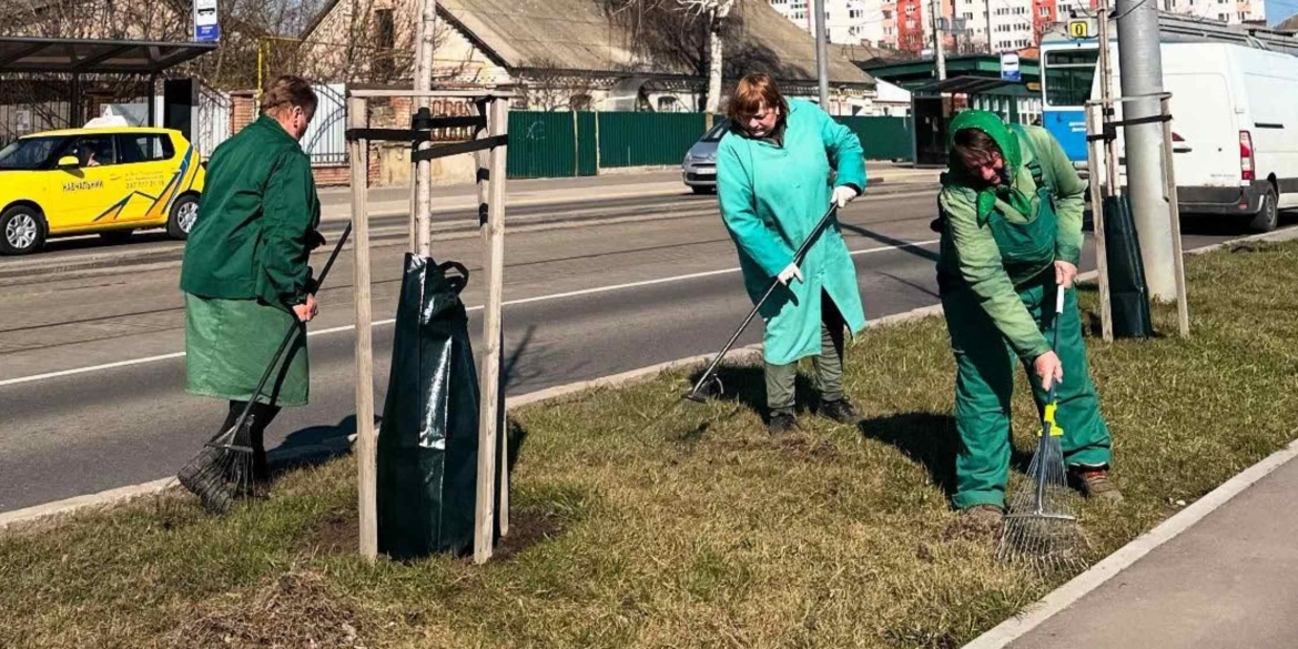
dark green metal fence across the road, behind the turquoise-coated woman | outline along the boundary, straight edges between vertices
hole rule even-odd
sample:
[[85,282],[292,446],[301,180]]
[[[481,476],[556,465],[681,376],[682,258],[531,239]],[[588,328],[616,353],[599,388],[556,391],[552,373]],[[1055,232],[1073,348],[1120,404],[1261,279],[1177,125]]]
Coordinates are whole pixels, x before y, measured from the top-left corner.
[[[509,114],[509,178],[569,178],[627,166],[679,165],[704,135],[702,113]],[[910,160],[903,117],[836,117],[861,138],[866,160]]]

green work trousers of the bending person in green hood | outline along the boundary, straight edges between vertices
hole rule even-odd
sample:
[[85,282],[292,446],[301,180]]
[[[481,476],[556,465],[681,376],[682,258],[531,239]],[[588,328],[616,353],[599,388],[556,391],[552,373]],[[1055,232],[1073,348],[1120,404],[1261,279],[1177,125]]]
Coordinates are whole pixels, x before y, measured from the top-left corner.
[[[1099,397],[1090,382],[1076,289],[1064,295],[1063,315],[1055,318],[1058,291],[1051,271],[1022,287],[1019,299],[1046,340],[1054,340],[1055,327],[1059,327],[1055,353],[1063,363],[1063,382],[1057,387],[1055,397],[1066,463],[1107,467],[1108,427],[1099,414]],[[1016,357],[968,288],[944,289],[942,309],[955,352],[955,428],[961,436],[953,501],[959,509],[1003,505],[1010,470],[1010,397]],[[1041,389],[1031,361],[1023,360],[1023,366],[1040,413],[1047,393]]]

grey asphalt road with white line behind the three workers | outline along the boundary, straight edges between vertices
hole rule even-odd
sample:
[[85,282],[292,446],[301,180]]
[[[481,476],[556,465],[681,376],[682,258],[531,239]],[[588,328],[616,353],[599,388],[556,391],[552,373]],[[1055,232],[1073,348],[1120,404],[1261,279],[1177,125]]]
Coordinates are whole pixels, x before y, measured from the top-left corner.
[[[897,190],[840,217],[868,318],[937,301],[933,193]],[[584,219],[566,221],[574,215]],[[380,409],[392,344],[382,322],[395,313],[405,236],[404,217],[393,218],[371,269]],[[509,395],[715,350],[750,308],[715,199],[552,205],[511,210],[508,223]],[[1243,234],[1212,223],[1185,231],[1186,248]],[[475,232],[447,231],[434,249],[476,271],[480,247]],[[125,247],[97,267],[56,270],[75,261],[57,253],[44,270],[4,274],[0,265],[0,511],[174,474],[223,419],[225,404],[183,392],[178,262],[170,253],[132,258],[140,249]],[[280,452],[353,430],[352,271],[344,253],[321,293],[312,405],[271,427],[267,444]],[[471,308],[483,301],[476,279],[463,295]],[[479,317],[471,310],[480,349]],[[757,324],[742,343],[759,337]]]

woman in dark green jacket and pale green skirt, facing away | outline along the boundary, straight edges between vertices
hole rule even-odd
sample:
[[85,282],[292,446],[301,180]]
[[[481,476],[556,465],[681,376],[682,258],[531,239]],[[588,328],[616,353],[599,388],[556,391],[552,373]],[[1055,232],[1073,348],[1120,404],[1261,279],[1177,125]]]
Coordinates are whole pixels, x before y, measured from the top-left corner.
[[[299,141],[315,92],[280,77],[262,116],[217,147],[180,270],[187,392],[230,401],[234,426],[289,327],[315,317],[310,251],[323,239],[310,158]],[[253,475],[265,480],[262,435],[280,406],[308,401],[305,327],[249,414]]]

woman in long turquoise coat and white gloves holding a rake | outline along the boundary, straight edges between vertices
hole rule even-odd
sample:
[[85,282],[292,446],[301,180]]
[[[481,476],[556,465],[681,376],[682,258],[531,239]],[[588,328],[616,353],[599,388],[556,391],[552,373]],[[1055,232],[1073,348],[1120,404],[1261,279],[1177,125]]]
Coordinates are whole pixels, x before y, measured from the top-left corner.
[[772,434],[793,428],[797,362],[807,357],[816,366],[819,413],[857,423],[842,393],[844,330],[859,334],[866,317],[839,223],[819,235],[801,267],[793,253],[831,201],[842,208],[864,190],[861,141],[815,104],[785,100],[765,74],[740,80],[728,117],[731,130],[716,152],[722,219],[753,301],[772,280],[783,284],[761,310],[767,426]]

